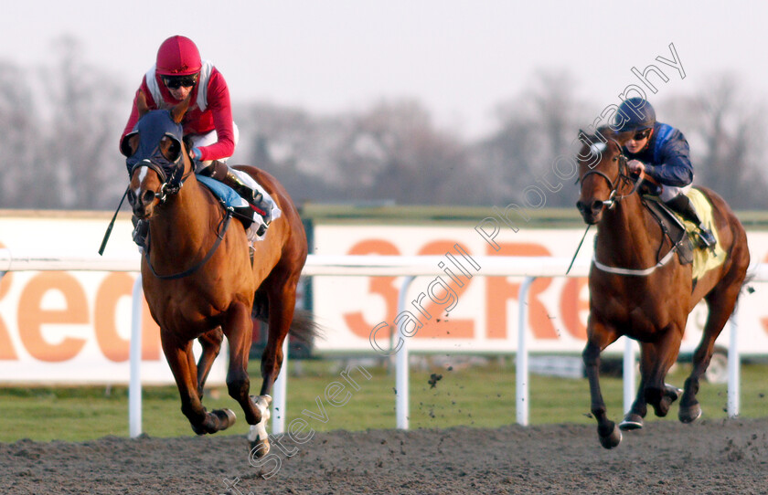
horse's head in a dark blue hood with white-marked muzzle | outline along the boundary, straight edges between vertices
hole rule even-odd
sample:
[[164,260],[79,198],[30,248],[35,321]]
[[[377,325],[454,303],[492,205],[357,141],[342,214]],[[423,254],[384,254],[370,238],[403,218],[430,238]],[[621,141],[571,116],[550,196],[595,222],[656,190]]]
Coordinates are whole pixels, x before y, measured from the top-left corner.
[[128,202],[137,218],[153,216],[167,195],[178,192],[185,171],[192,168],[181,126],[188,105],[187,98],[170,110],[149,111],[144,93],[139,93],[139,121],[120,146],[127,157],[125,163],[131,180]]

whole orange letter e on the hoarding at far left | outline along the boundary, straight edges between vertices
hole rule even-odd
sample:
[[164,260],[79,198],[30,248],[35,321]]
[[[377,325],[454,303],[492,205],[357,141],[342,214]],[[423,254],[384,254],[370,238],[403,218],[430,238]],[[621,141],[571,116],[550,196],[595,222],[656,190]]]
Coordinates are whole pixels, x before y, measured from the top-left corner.
[[[64,298],[63,310],[41,308],[43,297],[49,290],[57,290]],[[43,338],[45,324],[88,323],[88,302],[77,279],[66,272],[50,272],[29,280],[18,303],[18,332],[27,352],[39,361],[58,363],[75,357],[85,339],[64,337],[59,343]]]

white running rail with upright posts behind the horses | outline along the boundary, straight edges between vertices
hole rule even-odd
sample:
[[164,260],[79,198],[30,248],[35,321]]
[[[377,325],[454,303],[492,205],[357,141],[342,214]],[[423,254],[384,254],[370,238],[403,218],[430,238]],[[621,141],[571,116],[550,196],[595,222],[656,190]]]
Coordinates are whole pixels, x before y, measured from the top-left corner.
[[[566,277],[565,272],[570,260],[564,258],[520,258],[520,257],[473,257],[480,266],[475,275],[484,277],[504,276],[523,277],[518,294],[518,347],[517,347],[517,423],[528,425],[528,342],[525,331],[528,289],[536,278]],[[304,267],[305,276],[405,276],[400,289],[400,311],[404,307],[405,293],[411,281],[417,276],[442,275],[439,263],[443,257],[431,256],[317,256],[310,255]],[[97,257],[51,257],[48,254],[24,256],[14,255],[10,249],[0,248],[0,277],[6,271],[47,271],[47,270],[83,270],[83,271],[129,271],[136,272],[139,256],[133,258],[97,258]],[[586,277],[589,266],[576,264],[568,277]],[[768,281],[768,264],[752,268],[753,281]],[[129,387],[129,425],[132,437],[141,434],[141,277],[137,278],[133,289],[133,321],[131,338],[131,381]],[[740,356],[737,347],[736,318],[731,318],[731,342],[729,345],[728,378],[728,414],[737,416],[739,412],[739,368]],[[408,336],[402,335],[402,347],[398,352],[397,384],[397,427],[408,428],[409,401],[409,365]],[[628,341],[629,342],[629,341]],[[286,340],[287,344],[287,340]],[[287,351],[287,345],[286,345]],[[287,356],[287,353],[286,353]],[[287,363],[287,360],[286,362]],[[624,349],[624,410],[628,410],[634,400],[635,388],[635,349],[632,342]],[[272,415],[272,432],[282,433],[285,420],[285,390],[287,374],[280,374],[275,383],[273,406],[279,407],[280,414]]]

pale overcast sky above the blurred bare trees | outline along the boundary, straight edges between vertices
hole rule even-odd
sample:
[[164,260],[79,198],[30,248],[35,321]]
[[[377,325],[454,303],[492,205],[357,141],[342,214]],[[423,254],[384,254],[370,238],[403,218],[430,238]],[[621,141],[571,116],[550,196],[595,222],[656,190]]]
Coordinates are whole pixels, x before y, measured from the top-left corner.
[[[496,103],[515,96],[540,68],[570,70],[577,95],[600,102],[596,114],[637,82],[633,67],[649,64],[669,78],[652,79],[659,83],[656,98],[706,90],[713,73],[731,71],[763,102],[768,3],[722,5],[3,0],[0,59],[49,64],[53,40],[72,35],[89,63],[125,80],[127,116],[157,47],[183,34],[221,70],[235,103],[259,99],[335,112],[411,97],[440,125],[471,135],[491,127]],[[673,58],[670,44],[686,79],[656,61]]]

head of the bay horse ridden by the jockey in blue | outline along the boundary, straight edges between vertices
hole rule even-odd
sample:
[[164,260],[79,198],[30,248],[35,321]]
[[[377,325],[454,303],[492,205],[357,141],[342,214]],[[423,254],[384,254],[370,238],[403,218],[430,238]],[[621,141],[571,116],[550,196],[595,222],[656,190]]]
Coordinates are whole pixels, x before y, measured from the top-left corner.
[[[632,184],[627,174],[626,157],[615,136],[603,130],[594,135],[581,133],[579,180],[581,195],[576,207],[584,222],[597,224],[603,218],[606,207],[611,208],[622,195],[619,191],[625,184]],[[630,193],[631,194],[631,193]]]

